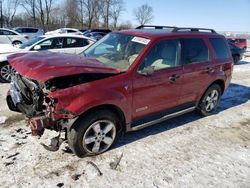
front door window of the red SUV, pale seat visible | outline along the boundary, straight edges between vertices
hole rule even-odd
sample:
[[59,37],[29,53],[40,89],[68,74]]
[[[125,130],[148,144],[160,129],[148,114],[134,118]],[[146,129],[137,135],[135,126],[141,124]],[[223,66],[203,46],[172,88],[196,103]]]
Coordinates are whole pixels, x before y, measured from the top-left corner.
[[161,70],[179,66],[178,40],[164,40],[157,43],[147,54],[139,70],[152,66]]

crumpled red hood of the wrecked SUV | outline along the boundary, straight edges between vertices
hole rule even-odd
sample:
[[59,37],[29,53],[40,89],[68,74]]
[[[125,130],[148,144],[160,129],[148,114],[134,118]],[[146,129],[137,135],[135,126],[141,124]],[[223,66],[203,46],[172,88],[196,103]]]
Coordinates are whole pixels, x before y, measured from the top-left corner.
[[96,59],[62,53],[18,53],[8,56],[8,62],[22,76],[42,82],[81,73],[120,73]]

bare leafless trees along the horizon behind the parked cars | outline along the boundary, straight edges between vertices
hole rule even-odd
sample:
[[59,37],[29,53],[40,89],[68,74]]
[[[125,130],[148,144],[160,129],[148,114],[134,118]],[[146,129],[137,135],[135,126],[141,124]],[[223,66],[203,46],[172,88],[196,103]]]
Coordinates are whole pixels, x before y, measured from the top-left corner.
[[[120,22],[126,13],[123,0],[0,0],[1,27],[32,26],[45,31],[61,27],[80,29],[131,28],[131,20]],[[145,4],[134,8],[138,24],[153,20],[153,9]]]

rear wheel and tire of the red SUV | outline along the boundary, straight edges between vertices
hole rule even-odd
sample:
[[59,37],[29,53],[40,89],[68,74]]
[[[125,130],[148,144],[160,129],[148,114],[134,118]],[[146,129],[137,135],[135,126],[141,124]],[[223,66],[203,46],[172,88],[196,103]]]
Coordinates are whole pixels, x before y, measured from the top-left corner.
[[218,84],[211,85],[198,105],[198,112],[202,116],[209,116],[216,111],[221,98],[221,87]]

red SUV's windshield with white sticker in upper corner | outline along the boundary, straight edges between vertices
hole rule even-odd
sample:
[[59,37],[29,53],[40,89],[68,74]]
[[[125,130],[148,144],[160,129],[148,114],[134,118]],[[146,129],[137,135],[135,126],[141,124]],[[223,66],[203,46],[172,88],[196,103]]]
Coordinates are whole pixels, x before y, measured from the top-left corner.
[[84,55],[124,72],[134,63],[149,42],[149,39],[142,37],[109,33],[90,46]]

